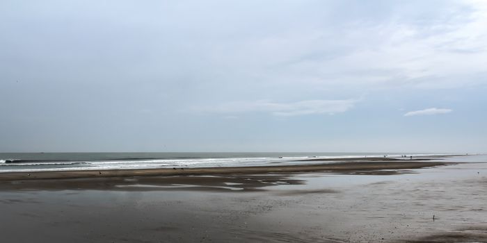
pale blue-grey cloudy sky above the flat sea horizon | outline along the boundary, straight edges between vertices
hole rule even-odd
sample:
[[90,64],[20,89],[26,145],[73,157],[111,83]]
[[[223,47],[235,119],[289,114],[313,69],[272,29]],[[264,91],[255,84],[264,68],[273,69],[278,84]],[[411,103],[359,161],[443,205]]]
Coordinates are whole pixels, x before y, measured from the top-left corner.
[[487,1],[0,1],[0,151],[487,152]]

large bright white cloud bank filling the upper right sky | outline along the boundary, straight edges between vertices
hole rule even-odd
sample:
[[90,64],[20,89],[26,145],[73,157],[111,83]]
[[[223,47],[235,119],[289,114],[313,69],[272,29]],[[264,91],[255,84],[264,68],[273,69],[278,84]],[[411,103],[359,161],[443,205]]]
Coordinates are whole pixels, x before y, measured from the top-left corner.
[[[304,16],[299,21],[308,28],[289,27],[222,43],[223,49],[212,50],[218,57],[212,60],[221,67],[233,66],[225,69],[227,79],[237,73],[245,80],[265,79],[289,90],[485,83],[485,78],[463,78],[485,76],[487,28],[482,26],[487,24],[487,4],[483,2],[386,3],[381,6],[388,14],[378,16],[368,15],[367,6],[356,3],[364,11],[342,19],[340,28],[328,25],[330,19],[317,22],[309,19],[312,15]],[[340,4],[332,6],[337,12],[349,12]]]

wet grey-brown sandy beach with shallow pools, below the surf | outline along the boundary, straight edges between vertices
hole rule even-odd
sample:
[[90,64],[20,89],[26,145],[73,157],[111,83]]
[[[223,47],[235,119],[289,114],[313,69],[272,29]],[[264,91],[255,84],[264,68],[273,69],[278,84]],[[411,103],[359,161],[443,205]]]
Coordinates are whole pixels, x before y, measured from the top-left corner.
[[8,172],[0,233],[5,242],[486,242],[487,163],[467,157]]

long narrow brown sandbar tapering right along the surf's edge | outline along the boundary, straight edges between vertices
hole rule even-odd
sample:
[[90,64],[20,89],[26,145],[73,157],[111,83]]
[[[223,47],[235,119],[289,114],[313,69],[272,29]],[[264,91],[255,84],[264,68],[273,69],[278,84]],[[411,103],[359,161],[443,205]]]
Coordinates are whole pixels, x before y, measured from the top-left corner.
[[266,174],[280,172],[310,171],[364,171],[382,169],[421,169],[441,165],[454,165],[453,162],[430,162],[426,160],[353,160],[314,165],[273,165],[252,167],[198,167],[198,168],[160,168],[160,169],[109,169],[83,171],[33,171],[0,173],[0,181],[26,181],[65,178],[109,178],[135,176],[191,176],[214,174]]

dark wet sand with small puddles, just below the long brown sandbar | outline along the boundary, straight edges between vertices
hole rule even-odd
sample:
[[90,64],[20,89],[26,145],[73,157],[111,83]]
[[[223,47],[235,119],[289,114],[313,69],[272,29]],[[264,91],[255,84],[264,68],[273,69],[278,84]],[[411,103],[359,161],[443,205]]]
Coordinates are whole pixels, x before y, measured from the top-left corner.
[[[115,191],[215,191],[257,192],[272,185],[302,185],[287,174],[158,176],[134,178],[75,178],[3,182],[0,190],[115,190]],[[70,192],[73,193],[73,192]]]

